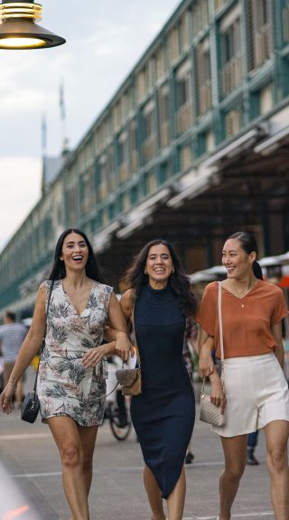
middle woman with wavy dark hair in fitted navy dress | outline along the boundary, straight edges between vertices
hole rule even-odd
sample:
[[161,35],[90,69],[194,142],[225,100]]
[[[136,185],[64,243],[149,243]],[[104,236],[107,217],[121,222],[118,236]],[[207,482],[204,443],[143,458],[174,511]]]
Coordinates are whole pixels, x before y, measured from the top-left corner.
[[156,240],[137,255],[124,279],[121,306],[135,320],[142,366],[142,393],[132,398],[131,417],[144,456],[144,487],[152,520],[181,520],[184,459],[195,419],[195,401],[182,359],[186,317],[196,299],[172,245]]

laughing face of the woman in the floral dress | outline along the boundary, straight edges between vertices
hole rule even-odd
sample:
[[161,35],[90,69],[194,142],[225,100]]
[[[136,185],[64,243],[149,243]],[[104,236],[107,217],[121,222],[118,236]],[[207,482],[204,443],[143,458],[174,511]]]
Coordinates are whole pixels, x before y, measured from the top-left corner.
[[84,269],[89,258],[87,242],[78,233],[68,234],[62,245],[61,260],[65,269]]

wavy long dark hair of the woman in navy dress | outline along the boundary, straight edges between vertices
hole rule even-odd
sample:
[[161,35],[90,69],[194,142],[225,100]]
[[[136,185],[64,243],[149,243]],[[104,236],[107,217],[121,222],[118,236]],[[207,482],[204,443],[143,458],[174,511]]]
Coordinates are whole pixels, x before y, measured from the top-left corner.
[[172,244],[168,241],[154,240],[145,244],[143,249],[135,256],[122,281],[126,288],[135,289],[134,296],[137,298],[142,288],[148,284],[148,275],[144,273],[148,253],[153,246],[159,244],[165,246],[170,251],[172,257],[174,272],[168,279],[168,285],[178,299],[182,313],[185,316],[193,316],[197,309],[197,299],[191,292],[190,279],[182,269],[181,260]]

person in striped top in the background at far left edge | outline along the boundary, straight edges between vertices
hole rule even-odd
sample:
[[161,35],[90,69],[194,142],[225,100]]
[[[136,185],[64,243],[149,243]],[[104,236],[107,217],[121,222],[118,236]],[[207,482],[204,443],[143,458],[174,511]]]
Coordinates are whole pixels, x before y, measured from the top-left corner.
[[[14,369],[14,364],[19,354],[21,345],[27,335],[27,328],[22,323],[16,323],[16,315],[11,310],[6,310],[4,325],[0,326],[0,350],[3,355],[3,383],[8,383]],[[21,377],[15,389],[16,408],[20,408],[23,402],[23,378]]]

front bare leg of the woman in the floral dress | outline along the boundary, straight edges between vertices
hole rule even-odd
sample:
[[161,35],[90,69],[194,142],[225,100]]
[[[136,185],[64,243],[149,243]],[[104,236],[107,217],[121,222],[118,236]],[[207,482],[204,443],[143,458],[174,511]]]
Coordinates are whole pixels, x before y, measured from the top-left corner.
[[48,419],[53,438],[61,454],[64,492],[73,520],[89,520],[89,503],[83,471],[84,452],[77,424],[70,417]]

